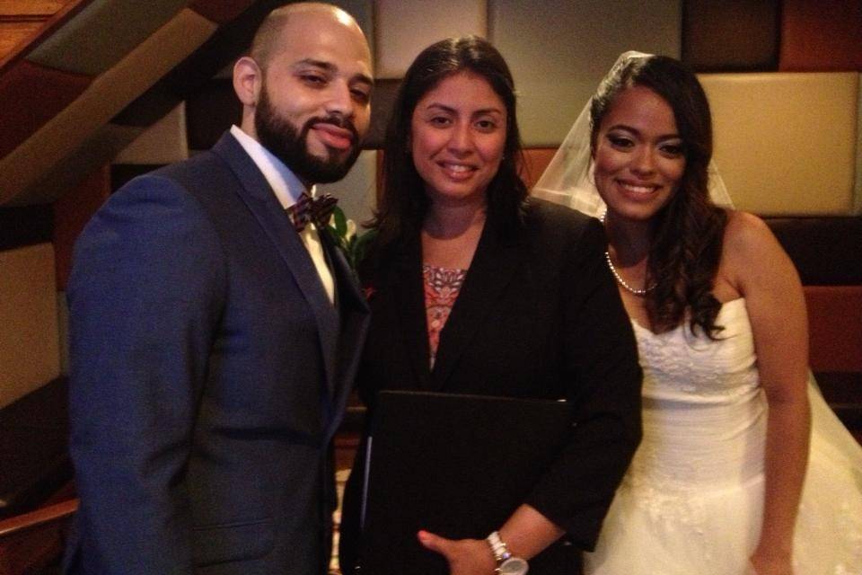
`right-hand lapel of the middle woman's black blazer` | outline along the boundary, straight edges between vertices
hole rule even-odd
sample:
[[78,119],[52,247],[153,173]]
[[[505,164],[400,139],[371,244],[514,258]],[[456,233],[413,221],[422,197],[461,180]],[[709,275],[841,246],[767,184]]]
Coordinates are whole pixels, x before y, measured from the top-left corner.
[[497,298],[511,282],[522,265],[525,244],[516,238],[501,239],[490,219],[482,230],[476,254],[467,271],[461,293],[455,300],[452,313],[440,332],[434,371],[431,372],[435,390],[445,388],[464,349],[482,323],[493,321],[488,314]]

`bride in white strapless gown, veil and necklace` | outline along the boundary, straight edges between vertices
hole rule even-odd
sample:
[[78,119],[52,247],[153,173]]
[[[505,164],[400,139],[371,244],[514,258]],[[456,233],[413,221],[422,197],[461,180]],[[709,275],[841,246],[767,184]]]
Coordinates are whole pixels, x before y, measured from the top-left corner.
[[644,368],[643,443],[585,571],[862,573],[862,449],[809,383],[793,264],[711,155],[695,75],[627,52],[533,190],[603,217]]

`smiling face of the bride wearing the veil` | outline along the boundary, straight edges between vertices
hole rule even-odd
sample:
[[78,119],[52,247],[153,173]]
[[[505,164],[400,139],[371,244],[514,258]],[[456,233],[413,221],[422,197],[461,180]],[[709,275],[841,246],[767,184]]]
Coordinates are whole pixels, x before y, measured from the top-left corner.
[[602,119],[593,158],[595,185],[611,217],[655,216],[685,172],[683,142],[670,105],[644,86],[620,92]]

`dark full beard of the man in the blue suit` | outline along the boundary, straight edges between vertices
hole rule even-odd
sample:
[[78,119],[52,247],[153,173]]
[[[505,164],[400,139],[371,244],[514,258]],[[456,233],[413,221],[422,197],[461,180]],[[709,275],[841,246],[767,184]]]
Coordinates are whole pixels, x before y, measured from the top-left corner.
[[[314,124],[325,122],[349,130],[353,134],[353,145],[342,156],[341,150],[329,150],[327,158],[320,158],[308,152],[308,132]],[[330,183],[339,181],[359,156],[359,134],[353,122],[342,116],[330,115],[326,118],[312,118],[305,122],[298,132],[288,120],[281,118],[269,102],[266,85],[260,91],[260,100],[254,115],[254,128],[262,146],[285,163],[291,172],[308,183]],[[329,149],[329,148],[327,148]]]

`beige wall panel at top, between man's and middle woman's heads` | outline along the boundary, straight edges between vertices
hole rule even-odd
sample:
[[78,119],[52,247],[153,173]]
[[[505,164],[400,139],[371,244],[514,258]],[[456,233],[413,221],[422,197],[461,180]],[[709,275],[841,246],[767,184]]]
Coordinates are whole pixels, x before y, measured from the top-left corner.
[[378,78],[400,78],[419,52],[449,36],[488,37],[485,0],[375,3],[374,46]]

